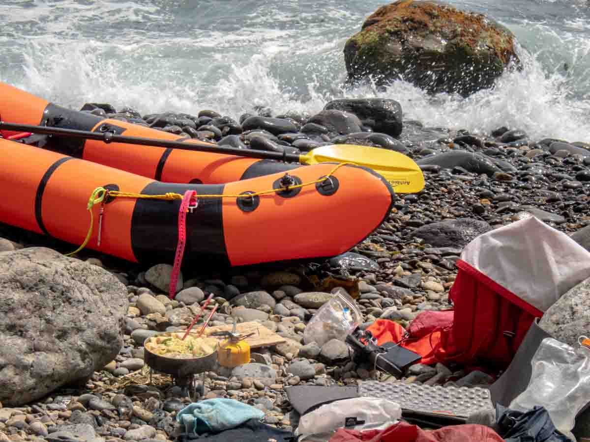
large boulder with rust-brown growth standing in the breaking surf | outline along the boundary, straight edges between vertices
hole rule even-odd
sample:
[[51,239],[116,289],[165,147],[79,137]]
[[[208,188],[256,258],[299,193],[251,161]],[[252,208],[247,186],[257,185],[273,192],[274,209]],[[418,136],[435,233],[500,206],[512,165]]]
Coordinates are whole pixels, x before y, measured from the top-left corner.
[[428,93],[470,95],[512,62],[513,34],[482,14],[428,0],[381,6],[344,48],[348,83],[405,80]]

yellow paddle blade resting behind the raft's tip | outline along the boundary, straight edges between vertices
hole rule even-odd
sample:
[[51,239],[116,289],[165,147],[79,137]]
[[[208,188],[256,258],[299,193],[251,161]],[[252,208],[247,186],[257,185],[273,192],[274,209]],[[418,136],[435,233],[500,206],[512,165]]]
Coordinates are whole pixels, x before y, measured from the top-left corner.
[[383,176],[395,193],[415,193],[424,189],[424,174],[418,164],[410,157],[393,150],[355,144],[333,144],[316,147],[301,155],[299,161],[303,164],[336,162],[369,167]]

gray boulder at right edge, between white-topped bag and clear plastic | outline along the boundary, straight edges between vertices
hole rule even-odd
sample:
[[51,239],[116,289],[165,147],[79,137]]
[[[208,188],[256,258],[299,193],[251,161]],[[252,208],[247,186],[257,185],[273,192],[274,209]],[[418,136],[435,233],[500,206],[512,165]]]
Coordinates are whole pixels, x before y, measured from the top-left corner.
[[565,292],[545,312],[539,326],[558,341],[578,347],[590,330],[590,278]]

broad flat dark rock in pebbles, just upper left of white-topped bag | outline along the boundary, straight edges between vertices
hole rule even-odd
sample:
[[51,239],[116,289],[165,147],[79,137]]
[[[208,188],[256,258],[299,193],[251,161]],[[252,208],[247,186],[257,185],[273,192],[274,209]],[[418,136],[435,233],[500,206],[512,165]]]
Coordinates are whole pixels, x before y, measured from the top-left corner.
[[421,238],[433,247],[465,247],[482,233],[492,230],[485,221],[460,218],[428,224],[412,232],[414,238]]

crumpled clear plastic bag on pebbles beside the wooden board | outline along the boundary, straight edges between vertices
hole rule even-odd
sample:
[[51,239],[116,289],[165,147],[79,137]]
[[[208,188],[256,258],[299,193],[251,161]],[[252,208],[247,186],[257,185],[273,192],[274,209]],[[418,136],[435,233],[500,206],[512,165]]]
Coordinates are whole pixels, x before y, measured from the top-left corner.
[[344,341],[362,322],[362,314],[348,294],[337,293],[322,305],[303,331],[306,344],[317,342],[322,347],[330,339]]

